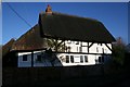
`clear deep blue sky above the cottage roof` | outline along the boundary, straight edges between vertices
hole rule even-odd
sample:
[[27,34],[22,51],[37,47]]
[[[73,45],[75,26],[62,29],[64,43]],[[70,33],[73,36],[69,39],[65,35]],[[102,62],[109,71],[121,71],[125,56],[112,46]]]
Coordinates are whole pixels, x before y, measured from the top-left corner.
[[6,2],[2,2],[3,45],[11,38],[17,39],[35,26],[38,23],[39,13],[46,11],[48,4],[54,12],[99,20],[115,38],[121,37],[128,44],[127,2],[9,2],[9,4],[30,26],[20,18]]

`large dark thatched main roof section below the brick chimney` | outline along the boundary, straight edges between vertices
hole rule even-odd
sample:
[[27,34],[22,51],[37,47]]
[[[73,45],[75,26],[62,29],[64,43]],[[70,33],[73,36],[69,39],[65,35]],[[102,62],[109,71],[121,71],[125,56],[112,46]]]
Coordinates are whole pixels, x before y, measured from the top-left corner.
[[42,37],[91,42],[112,42],[115,38],[99,21],[53,12],[40,13]]

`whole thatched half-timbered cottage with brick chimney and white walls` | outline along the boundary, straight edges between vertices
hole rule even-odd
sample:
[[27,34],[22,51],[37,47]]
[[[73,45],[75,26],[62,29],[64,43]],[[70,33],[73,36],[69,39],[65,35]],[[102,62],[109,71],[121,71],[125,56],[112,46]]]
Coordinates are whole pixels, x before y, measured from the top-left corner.
[[103,64],[115,38],[98,20],[53,12],[48,5],[38,24],[3,46],[5,62],[17,67]]

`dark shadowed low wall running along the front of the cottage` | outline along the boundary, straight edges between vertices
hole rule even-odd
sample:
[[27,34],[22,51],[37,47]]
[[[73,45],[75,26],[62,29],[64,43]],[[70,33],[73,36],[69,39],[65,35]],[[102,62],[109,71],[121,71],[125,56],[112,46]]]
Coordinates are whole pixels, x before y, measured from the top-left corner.
[[60,67],[4,67],[2,86],[39,85],[48,80],[103,75],[102,65]]

